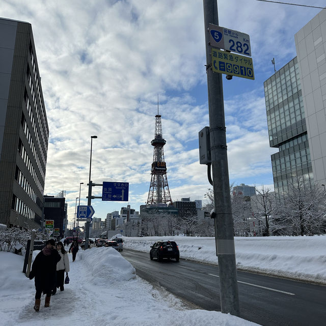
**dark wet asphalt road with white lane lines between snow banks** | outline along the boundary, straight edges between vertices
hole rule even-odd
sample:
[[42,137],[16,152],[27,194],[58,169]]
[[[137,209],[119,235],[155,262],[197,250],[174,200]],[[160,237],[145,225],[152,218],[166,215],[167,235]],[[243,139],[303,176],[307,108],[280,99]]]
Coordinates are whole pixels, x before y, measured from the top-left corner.
[[[122,256],[141,278],[166,288],[197,308],[221,311],[219,268],[180,259],[156,261],[124,249]],[[325,324],[326,287],[237,272],[240,317],[263,326]]]

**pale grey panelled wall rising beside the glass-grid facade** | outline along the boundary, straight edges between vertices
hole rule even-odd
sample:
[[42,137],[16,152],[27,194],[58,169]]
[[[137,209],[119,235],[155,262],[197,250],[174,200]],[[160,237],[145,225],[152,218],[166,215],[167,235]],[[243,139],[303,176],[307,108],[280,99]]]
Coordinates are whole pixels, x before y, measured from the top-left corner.
[[295,36],[313,180],[326,184],[326,10]]

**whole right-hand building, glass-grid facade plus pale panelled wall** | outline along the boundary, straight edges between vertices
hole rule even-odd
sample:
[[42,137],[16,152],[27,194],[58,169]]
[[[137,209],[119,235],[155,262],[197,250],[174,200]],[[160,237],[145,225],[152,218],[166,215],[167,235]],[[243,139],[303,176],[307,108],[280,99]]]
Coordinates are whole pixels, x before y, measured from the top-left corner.
[[296,176],[326,182],[326,10],[294,38],[297,57],[264,83],[276,193]]

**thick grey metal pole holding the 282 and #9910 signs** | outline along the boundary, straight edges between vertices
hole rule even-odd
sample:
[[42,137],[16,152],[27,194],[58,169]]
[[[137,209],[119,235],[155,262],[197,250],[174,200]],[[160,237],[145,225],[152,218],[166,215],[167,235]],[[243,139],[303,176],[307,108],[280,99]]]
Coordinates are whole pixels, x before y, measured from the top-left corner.
[[209,23],[219,24],[216,0],[203,0],[206,42],[209,132],[215,208],[215,241],[220,270],[221,311],[239,316],[222,75],[211,69]]

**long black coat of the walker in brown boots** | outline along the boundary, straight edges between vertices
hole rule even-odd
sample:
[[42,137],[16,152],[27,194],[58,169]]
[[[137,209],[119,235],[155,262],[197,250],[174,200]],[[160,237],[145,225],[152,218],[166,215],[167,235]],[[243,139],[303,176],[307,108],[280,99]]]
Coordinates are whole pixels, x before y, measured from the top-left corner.
[[52,249],[51,254],[45,256],[43,251],[35,257],[32,270],[29,275],[30,280],[35,277],[36,290],[44,293],[52,290],[56,285],[57,262],[61,259],[58,250]]

